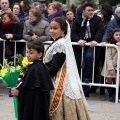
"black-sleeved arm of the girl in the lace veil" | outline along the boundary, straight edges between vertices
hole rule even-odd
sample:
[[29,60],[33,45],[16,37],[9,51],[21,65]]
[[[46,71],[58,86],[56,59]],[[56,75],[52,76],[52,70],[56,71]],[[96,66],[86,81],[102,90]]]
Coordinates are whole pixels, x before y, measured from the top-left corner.
[[59,69],[62,67],[62,65],[65,62],[66,55],[64,53],[56,53],[53,56],[52,63],[50,65],[47,65],[48,71],[50,76],[55,76]]

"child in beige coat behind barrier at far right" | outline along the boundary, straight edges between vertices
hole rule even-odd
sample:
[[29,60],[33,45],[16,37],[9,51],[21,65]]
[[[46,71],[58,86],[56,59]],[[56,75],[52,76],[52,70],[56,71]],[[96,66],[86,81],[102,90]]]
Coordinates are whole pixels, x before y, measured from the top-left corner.
[[[120,43],[120,28],[113,30],[111,37],[108,39],[109,44],[115,44],[119,46]],[[106,64],[104,64],[101,75],[106,77],[107,84],[113,84],[116,78],[116,66],[117,66],[118,53],[116,48],[108,47],[106,54]],[[105,68],[106,67],[106,68]],[[105,72],[106,70],[106,72]],[[110,102],[115,102],[115,88],[107,87]],[[119,88],[119,99],[120,99],[120,88]]]

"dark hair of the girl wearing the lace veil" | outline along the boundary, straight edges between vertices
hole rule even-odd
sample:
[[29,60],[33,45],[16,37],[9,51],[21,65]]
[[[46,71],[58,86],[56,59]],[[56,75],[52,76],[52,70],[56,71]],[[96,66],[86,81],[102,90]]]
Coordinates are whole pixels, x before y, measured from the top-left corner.
[[66,22],[65,18],[56,17],[52,21],[55,21],[55,22],[59,23],[61,30],[64,31],[65,35],[67,34],[67,22]]

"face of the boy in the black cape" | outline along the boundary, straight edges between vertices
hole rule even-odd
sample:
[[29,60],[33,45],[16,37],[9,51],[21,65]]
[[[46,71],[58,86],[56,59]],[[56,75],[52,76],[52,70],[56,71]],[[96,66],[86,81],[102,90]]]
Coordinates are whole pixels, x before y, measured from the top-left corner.
[[29,62],[34,62],[35,60],[39,60],[42,57],[42,52],[38,53],[35,49],[28,49],[26,54]]

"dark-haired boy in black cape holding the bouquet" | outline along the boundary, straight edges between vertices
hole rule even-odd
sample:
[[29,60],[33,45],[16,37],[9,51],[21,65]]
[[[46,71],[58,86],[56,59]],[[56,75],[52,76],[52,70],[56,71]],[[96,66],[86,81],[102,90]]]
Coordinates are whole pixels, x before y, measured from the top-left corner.
[[33,62],[23,77],[22,84],[11,90],[18,96],[18,120],[49,120],[50,91],[53,84],[43,64],[43,44],[36,41],[27,43],[27,58]]

